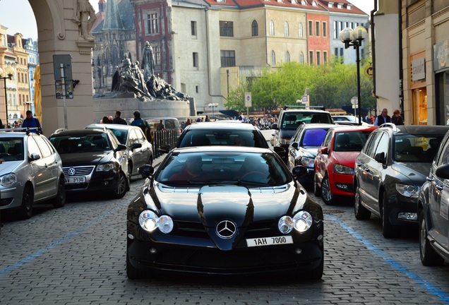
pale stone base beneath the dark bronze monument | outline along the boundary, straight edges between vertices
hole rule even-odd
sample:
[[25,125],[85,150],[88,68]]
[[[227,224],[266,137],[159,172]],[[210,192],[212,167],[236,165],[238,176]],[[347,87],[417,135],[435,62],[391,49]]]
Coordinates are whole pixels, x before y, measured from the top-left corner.
[[[193,114],[191,109],[193,109]],[[142,118],[195,116],[193,100],[152,100],[143,102],[137,97],[123,96],[116,98],[94,98],[93,100],[95,123],[100,122],[103,116],[114,117],[116,110],[121,111],[121,117],[126,119],[126,121],[133,119],[133,112],[136,110],[140,112]]]

